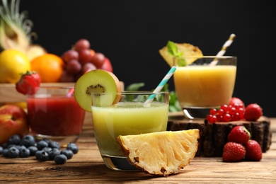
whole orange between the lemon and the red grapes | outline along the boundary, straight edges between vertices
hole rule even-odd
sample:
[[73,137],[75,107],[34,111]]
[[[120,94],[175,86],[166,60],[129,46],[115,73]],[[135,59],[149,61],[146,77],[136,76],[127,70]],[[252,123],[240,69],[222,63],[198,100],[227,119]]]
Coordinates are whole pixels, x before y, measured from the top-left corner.
[[64,62],[56,54],[42,54],[30,61],[32,71],[40,74],[41,82],[56,83],[62,76]]

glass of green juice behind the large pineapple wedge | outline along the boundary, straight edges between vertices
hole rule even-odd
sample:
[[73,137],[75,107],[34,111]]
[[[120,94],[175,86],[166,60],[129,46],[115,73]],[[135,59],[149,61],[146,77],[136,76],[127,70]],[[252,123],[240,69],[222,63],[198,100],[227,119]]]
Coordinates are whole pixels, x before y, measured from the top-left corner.
[[[121,96],[119,103],[105,106],[104,100]],[[149,96],[154,100],[145,105]],[[127,162],[117,142],[119,135],[166,131],[168,123],[168,92],[142,91],[92,93],[92,120],[100,155],[105,166],[115,171],[136,171]]]

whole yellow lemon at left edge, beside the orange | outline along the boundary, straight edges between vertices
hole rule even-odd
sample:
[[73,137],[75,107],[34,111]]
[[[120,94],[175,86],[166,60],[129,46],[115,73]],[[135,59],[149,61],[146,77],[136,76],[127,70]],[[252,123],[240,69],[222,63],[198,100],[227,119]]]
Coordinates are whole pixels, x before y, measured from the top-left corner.
[[30,60],[23,52],[8,49],[0,53],[0,83],[16,84],[27,70],[30,71]]

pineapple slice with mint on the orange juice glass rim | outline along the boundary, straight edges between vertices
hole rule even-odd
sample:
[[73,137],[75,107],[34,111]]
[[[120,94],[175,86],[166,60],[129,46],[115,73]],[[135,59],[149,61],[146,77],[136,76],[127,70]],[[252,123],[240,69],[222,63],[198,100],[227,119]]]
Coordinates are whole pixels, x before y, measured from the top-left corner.
[[[203,55],[202,51],[198,47],[191,45],[189,43],[176,43],[176,45],[178,47],[178,52],[182,52],[181,57],[184,57],[184,58],[195,57],[195,56],[201,57]],[[159,54],[161,54],[161,57],[165,59],[165,61],[168,63],[170,67],[173,67],[173,56],[168,52],[167,46],[159,50]],[[186,59],[187,65],[191,64],[192,62],[195,62],[194,58],[193,59],[185,58],[185,59]]]

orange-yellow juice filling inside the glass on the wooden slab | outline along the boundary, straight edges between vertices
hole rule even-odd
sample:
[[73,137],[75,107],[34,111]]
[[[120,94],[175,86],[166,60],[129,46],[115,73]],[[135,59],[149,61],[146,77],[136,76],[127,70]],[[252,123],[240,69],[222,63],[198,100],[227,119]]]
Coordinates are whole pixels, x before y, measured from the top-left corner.
[[228,104],[234,91],[236,66],[191,65],[173,74],[182,108],[217,108]]

